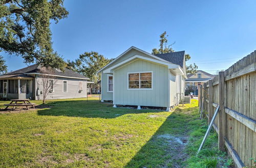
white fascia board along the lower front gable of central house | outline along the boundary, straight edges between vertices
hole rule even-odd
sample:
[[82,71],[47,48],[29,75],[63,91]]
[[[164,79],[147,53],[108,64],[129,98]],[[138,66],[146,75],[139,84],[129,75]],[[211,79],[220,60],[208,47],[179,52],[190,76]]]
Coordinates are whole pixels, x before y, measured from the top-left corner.
[[141,59],[141,60],[146,60],[146,61],[150,61],[150,62],[153,62],[153,63],[157,63],[157,64],[162,64],[162,65],[166,65],[168,66],[168,69],[176,69],[176,68],[179,68],[179,65],[176,65],[176,64],[172,64],[172,63],[169,63],[169,62],[163,62],[163,61],[160,61],[160,60],[155,60],[155,59],[151,59],[151,58],[147,58],[147,57],[143,57],[141,55],[134,55],[133,57],[130,57],[129,59],[126,59],[124,60],[123,62],[121,63],[118,63],[106,70],[103,71],[103,73],[112,73],[112,70],[123,65],[123,64],[126,64],[134,59]]

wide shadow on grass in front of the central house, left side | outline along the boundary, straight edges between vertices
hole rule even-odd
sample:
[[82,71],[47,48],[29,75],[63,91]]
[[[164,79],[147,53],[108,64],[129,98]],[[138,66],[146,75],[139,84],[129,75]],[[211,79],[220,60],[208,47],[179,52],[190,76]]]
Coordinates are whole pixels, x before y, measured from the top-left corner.
[[125,114],[154,113],[160,111],[113,108],[111,103],[101,103],[98,100],[51,101],[40,106],[39,108],[41,109],[37,111],[37,114],[40,116],[68,116],[105,119],[112,119]]

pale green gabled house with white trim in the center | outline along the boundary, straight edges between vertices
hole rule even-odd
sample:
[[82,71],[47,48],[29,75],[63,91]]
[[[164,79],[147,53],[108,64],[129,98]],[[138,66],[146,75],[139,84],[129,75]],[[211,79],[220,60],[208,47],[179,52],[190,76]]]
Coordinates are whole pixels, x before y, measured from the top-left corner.
[[100,69],[101,101],[170,107],[184,94],[185,51],[153,55],[132,46]]

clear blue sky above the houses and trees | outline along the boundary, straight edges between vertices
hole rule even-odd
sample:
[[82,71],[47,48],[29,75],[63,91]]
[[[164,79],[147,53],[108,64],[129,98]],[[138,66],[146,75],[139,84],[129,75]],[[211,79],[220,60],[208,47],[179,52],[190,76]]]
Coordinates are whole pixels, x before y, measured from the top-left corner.
[[[209,73],[226,69],[256,49],[256,1],[65,1],[68,18],[53,23],[53,48],[65,60],[85,51],[116,58],[136,46],[147,52],[169,35],[176,51]],[[26,67],[4,54],[9,70]]]

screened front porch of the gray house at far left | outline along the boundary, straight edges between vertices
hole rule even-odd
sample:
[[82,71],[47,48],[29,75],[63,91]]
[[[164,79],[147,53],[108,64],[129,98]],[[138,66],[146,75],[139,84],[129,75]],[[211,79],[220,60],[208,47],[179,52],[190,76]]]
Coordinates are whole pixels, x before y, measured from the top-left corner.
[[23,74],[0,76],[0,99],[32,99],[32,79]]

